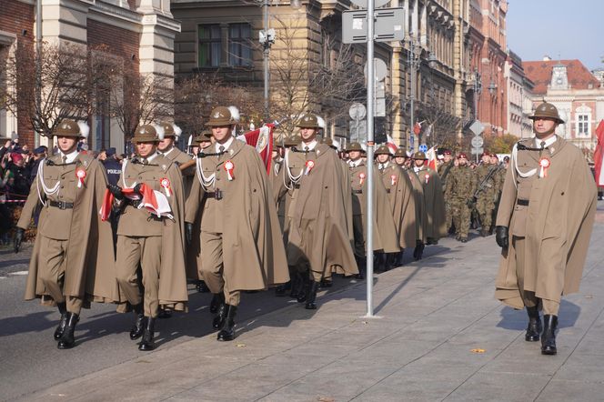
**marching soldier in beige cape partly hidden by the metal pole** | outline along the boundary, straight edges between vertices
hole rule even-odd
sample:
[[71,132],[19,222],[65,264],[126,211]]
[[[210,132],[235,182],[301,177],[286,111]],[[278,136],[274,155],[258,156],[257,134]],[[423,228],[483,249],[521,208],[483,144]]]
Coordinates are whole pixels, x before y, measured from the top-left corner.
[[367,221],[373,219],[373,249],[381,253],[398,253],[397,229],[388,194],[382,180],[374,183],[374,212],[373,216],[367,216],[367,169],[372,168],[375,177],[380,178],[379,172],[373,164],[367,166],[361,157],[364,154],[360,144],[350,143],[346,151],[350,160],[350,187],[352,188],[352,217],[355,233],[355,256],[357,261],[362,261],[366,256],[366,234]]

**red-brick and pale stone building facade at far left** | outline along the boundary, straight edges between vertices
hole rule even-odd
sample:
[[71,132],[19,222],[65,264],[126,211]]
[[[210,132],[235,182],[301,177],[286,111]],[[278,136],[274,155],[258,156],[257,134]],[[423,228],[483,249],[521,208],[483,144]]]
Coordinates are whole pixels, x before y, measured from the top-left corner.
[[[24,41],[34,52],[35,0],[0,0],[0,10],[0,46],[10,48]],[[174,75],[174,37],[180,25],[167,0],[57,0],[41,2],[39,11],[39,39],[44,43],[94,46],[102,49],[96,56],[127,60],[140,74]],[[124,134],[102,108],[95,108],[88,119],[92,149],[125,149]],[[34,133],[26,116],[7,110],[0,110],[0,135],[18,135],[30,147],[48,145],[47,138]]]

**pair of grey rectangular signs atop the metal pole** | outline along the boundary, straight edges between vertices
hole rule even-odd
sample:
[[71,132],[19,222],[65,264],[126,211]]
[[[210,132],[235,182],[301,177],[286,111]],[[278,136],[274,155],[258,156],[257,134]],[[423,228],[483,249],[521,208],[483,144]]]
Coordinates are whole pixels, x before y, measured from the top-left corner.
[[[376,42],[394,42],[405,39],[404,8],[381,8],[375,10]],[[367,43],[367,10],[348,10],[342,12],[342,43]]]

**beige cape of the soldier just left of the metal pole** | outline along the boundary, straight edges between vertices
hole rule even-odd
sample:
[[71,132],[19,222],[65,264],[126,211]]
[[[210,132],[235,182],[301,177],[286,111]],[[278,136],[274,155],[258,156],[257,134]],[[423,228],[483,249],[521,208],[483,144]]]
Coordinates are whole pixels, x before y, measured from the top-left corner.
[[[346,276],[357,274],[347,216],[350,194],[344,194],[344,169],[336,152],[326,144],[317,144],[308,155],[314,158],[314,166],[307,175],[303,152],[289,150],[282,169],[285,177],[279,195],[283,196],[287,188],[294,189],[287,210],[290,220],[287,264],[297,266],[307,261],[312,271],[324,277],[330,276],[332,270]],[[300,176],[297,185],[289,175]]]

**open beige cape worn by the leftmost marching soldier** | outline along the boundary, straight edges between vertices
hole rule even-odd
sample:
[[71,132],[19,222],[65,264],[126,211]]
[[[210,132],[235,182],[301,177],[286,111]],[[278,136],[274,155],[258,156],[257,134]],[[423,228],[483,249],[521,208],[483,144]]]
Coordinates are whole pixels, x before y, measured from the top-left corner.
[[[49,157],[48,160],[51,164],[63,163],[58,154]],[[47,164],[46,159],[40,163]],[[52,167],[45,166],[48,170]],[[65,222],[65,225],[69,226],[69,239],[63,262],[65,264],[63,292],[64,296],[81,297],[84,300],[83,307],[88,308],[91,301],[110,303],[119,300],[119,296],[111,225],[108,221],[103,222],[98,214],[107,186],[106,171],[94,157],[80,153],[76,156],[76,164],[69,167],[73,171],[73,173],[69,172],[69,176],[73,175],[75,178],[76,169],[80,167],[86,170],[86,177],[83,186],[77,189],[71,222]],[[37,176],[31,186],[17,224],[21,228],[25,229],[29,226],[35,208],[41,206],[38,186],[43,199],[45,202],[48,201],[39,181],[40,177]],[[48,177],[45,177],[45,182],[46,186],[55,186],[56,178],[48,180]],[[47,218],[49,208],[51,206],[42,207],[39,226],[42,226]],[[44,284],[38,280],[38,265],[42,263],[39,260],[40,251],[39,237],[36,237],[29,263],[25,300],[39,297],[43,305],[55,306],[55,301],[49,297]]]

